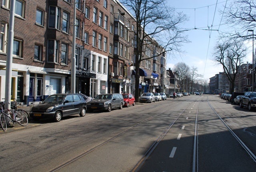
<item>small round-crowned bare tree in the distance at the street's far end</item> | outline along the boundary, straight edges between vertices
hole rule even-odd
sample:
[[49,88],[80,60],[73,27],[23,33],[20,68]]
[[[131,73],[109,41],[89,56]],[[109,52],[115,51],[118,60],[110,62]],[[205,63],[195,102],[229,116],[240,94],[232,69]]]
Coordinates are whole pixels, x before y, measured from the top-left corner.
[[184,80],[190,74],[189,73],[190,72],[190,67],[184,62],[178,62],[177,64],[174,65],[173,70],[176,72],[176,76],[178,78],[179,88],[183,88],[184,87]]

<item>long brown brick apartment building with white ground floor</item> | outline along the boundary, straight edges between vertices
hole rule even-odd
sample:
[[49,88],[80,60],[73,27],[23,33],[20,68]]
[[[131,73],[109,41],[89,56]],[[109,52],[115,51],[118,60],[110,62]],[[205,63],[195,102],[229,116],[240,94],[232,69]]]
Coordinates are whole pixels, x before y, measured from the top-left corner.
[[[10,1],[0,0],[1,99],[5,94]],[[132,74],[136,23],[130,12],[118,0],[76,2],[74,16],[73,0],[15,0],[12,99],[32,104],[50,94],[70,92],[74,34],[75,92],[94,97],[132,93],[135,89]],[[148,41],[154,42],[150,38]],[[145,56],[162,53],[159,45],[144,48]],[[140,64],[144,72],[140,77],[141,92],[160,92],[162,86],[168,87],[164,81],[164,56]]]

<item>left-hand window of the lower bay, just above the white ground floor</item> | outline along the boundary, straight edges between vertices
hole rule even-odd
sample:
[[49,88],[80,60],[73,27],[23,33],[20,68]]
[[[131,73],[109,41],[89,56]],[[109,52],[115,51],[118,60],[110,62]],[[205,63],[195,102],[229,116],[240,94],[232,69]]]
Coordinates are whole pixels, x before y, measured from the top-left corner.
[[58,53],[59,42],[57,40],[48,40],[47,62],[58,63]]

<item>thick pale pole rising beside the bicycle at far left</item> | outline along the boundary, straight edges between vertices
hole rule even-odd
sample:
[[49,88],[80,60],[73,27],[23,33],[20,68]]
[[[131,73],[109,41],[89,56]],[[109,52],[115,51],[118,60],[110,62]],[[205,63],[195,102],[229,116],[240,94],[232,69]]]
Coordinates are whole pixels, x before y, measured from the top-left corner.
[[[5,100],[11,102],[11,89],[12,89],[12,52],[13,52],[13,37],[14,37],[14,9],[15,0],[10,1],[10,18],[8,29],[8,42],[7,42],[7,56],[6,56],[6,78],[5,78]],[[5,103],[5,109],[10,109],[10,104]]]

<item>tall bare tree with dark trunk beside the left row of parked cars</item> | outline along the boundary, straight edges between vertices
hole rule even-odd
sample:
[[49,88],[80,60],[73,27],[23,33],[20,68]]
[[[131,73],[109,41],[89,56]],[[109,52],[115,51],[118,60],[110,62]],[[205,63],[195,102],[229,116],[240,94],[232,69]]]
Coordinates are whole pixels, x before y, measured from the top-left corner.
[[[134,57],[135,88],[139,88],[140,62],[156,56],[165,56],[170,50],[178,50],[179,44],[186,39],[181,36],[178,24],[187,20],[181,13],[174,15],[174,8],[166,6],[166,0],[120,0],[134,15]],[[151,38],[152,41],[148,41]],[[143,56],[146,45],[161,47],[158,53],[149,58]],[[139,90],[135,89],[135,99],[139,100]]]

